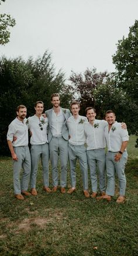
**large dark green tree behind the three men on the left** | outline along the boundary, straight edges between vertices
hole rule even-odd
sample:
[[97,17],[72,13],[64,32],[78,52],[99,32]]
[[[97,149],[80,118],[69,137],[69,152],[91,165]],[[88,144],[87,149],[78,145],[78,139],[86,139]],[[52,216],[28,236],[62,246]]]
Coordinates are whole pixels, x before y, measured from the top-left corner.
[[51,107],[50,95],[60,93],[63,107],[71,101],[70,86],[65,85],[64,73],[56,73],[51,63],[51,54],[45,52],[42,57],[26,62],[22,58],[0,59],[0,154],[9,154],[6,143],[8,124],[16,116],[16,107],[27,107],[27,116],[34,114],[34,103],[44,102],[44,107]]

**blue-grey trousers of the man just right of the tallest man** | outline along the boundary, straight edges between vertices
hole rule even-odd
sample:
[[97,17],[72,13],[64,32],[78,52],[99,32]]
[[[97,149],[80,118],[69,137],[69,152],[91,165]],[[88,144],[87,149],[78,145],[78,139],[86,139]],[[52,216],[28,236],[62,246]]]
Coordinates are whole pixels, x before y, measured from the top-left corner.
[[75,166],[78,159],[82,173],[83,188],[84,190],[88,190],[88,165],[86,147],[84,145],[76,146],[68,143],[68,158],[70,163],[71,186],[76,187]]

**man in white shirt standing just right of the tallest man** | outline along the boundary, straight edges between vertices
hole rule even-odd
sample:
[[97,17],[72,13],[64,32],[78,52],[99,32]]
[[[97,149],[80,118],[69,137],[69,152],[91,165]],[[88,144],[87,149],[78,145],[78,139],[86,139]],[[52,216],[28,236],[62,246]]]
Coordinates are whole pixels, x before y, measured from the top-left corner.
[[84,196],[89,197],[88,192],[88,166],[86,153],[86,138],[84,134],[84,124],[88,122],[87,117],[78,114],[80,105],[78,102],[71,103],[71,112],[73,116],[67,120],[67,126],[70,139],[68,141],[68,158],[70,163],[71,188],[68,194],[72,194],[76,190],[76,174],[75,166],[78,159],[82,172],[82,181]]

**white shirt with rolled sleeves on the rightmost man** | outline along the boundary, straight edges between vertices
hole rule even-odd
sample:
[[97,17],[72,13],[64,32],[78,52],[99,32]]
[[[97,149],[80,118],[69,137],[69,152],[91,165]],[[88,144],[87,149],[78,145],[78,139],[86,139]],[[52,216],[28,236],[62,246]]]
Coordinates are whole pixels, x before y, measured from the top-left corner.
[[109,126],[105,127],[105,138],[108,151],[118,152],[122,142],[129,140],[129,134],[126,129],[122,129],[121,123],[115,122],[110,131]]

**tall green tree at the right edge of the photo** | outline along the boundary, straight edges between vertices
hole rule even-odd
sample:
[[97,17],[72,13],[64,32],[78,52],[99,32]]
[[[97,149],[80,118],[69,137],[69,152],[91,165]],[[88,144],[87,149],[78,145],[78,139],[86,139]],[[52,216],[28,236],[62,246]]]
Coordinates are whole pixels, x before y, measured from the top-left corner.
[[[132,125],[129,126],[130,133],[138,135],[138,21],[129,28],[127,38],[118,41],[117,50],[113,55],[113,63],[116,67],[115,80],[119,89],[123,89],[129,102],[129,115]],[[135,106],[135,107],[134,107]]]

